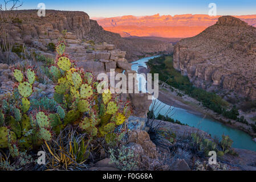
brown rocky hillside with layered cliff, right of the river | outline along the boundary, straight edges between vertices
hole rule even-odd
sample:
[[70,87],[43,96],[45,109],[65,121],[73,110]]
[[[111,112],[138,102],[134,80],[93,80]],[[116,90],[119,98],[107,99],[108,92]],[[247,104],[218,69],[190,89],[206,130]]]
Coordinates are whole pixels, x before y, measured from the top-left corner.
[[256,28],[233,16],[174,47],[173,66],[194,85],[256,99]]

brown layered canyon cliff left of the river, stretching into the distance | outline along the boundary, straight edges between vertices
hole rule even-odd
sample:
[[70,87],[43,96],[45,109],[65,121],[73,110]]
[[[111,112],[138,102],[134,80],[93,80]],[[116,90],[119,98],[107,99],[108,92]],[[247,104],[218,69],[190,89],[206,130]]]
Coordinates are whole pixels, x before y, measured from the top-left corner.
[[63,30],[71,32],[67,36],[67,43],[82,43],[83,40],[111,43],[126,51],[129,61],[136,60],[145,53],[173,51],[171,44],[158,40],[152,42],[141,39],[140,42],[133,43],[133,40],[123,39],[119,34],[103,30],[82,11],[46,10],[46,16],[39,17],[37,10],[19,10],[11,16],[14,20],[8,31],[10,39],[17,44],[25,43],[42,51],[47,51],[48,43],[58,42]]

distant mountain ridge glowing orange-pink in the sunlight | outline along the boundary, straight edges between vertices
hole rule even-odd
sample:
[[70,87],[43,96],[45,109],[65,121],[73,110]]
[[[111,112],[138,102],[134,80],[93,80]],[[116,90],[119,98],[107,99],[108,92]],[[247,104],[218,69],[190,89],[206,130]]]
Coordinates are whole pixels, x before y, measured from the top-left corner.
[[[119,16],[97,19],[104,30],[121,36],[160,36],[164,38],[187,38],[195,36],[215,24],[221,16],[202,14],[152,16]],[[256,15],[234,16],[256,27]]]

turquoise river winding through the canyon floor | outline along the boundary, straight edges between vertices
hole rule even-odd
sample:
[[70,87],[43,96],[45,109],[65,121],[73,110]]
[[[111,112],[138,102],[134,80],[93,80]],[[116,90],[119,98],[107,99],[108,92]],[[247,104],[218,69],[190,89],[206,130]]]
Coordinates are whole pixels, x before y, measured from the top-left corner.
[[[132,70],[137,72],[139,67],[147,68],[147,61],[154,57],[157,56],[144,57],[143,59],[133,61]],[[141,90],[141,86],[139,86],[139,89]],[[154,112],[163,115],[166,114],[170,106],[164,104],[159,100],[157,100],[156,102],[157,105],[160,104],[160,106],[158,107],[159,109],[156,109]],[[173,119],[178,119],[178,121],[180,121],[181,123],[206,131],[212,137],[216,136],[221,139],[222,134],[229,135],[229,137],[234,141],[234,148],[243,148],[256,151],[256,142],[251,139],[250,135],[241,130],[228,127],[221,122],[215,121],[214,119],[202,118],[200,117],[200,115],[189,113],[188,110],[173,106],[172,111],[169,112],[168,116]]]

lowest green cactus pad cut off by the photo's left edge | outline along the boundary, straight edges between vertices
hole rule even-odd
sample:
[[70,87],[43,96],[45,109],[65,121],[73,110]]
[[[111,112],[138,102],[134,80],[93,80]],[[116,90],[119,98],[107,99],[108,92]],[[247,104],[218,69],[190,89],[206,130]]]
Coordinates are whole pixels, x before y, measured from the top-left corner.
[[8,144],[16,140],[16,135],[7,127],[0,127],[0,148],[7,148]]

